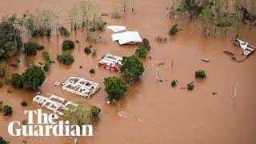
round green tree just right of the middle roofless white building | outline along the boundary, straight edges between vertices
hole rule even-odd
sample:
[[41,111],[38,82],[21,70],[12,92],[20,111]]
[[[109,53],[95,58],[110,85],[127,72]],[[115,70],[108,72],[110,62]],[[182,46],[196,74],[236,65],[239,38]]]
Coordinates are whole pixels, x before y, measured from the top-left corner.
[[126,83],[118,77],[104,78],[104,85],[107,94],[107,100],[121,98],[127,90]]

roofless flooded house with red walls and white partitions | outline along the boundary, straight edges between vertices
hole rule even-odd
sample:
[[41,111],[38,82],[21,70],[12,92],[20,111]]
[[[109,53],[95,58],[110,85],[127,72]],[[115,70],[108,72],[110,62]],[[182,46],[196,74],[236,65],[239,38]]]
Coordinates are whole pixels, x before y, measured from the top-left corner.
[[118,72],[116,65],[122,65],[122,57],[113,54],[103,55],[102,60],[98,62],[98,66],[103,67],[106,70]]

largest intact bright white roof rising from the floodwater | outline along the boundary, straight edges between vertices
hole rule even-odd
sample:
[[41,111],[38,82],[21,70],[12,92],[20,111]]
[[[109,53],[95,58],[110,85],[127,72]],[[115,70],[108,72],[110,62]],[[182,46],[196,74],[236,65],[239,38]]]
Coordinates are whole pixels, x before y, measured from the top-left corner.
[[142,42],[138,31],[126,31],[118,34],[112,34],[113,42],[118,41],[119,45],[136,44]]

